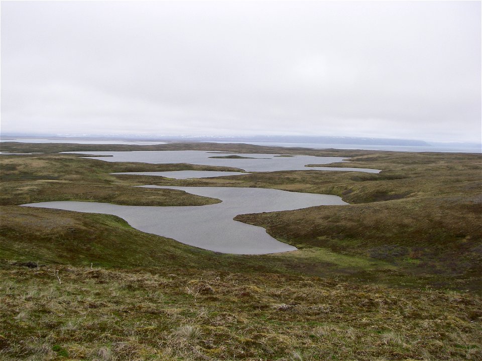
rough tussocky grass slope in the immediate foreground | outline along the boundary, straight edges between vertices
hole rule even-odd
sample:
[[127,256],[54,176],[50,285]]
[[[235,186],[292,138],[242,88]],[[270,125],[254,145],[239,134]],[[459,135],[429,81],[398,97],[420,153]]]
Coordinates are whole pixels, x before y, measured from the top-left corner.
[[[482,303],[459,293],[196,269],[3,262],[0,273],[2,354],[9,359],[482,357]],[[200,283],[212,292],[185,291]]]

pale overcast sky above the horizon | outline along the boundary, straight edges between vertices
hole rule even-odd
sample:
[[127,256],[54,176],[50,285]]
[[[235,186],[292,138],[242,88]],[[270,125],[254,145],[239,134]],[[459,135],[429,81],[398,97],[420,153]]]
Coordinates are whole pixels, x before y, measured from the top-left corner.
[[480,5],[4,1],[1,131],[479,142]]

